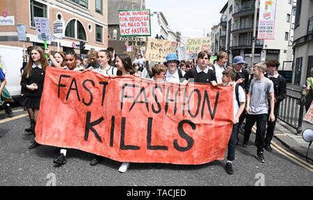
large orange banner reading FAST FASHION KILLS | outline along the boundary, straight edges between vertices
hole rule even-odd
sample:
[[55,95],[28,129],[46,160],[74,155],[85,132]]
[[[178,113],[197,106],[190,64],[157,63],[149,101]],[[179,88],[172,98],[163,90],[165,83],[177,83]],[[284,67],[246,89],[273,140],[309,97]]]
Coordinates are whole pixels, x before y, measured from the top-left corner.
[[222,160],[233,86],[159,83],[47,68],[36,141],[120,162]]

